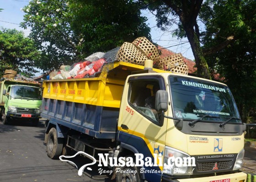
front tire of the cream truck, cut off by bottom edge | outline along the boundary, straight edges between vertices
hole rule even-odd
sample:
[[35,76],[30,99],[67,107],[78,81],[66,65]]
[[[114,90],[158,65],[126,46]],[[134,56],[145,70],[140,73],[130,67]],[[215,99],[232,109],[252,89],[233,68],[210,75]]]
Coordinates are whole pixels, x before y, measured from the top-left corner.
[[[127,156],[127,157],[132,157],[132,156]],[[126,158],[125,158],[125,161],[126,161]],[[135,161],[134,157],[133,157],[133,161]],[[142,181],[140,177],[139,167],[124,166],[124,167],[118,167],[118,168],[120,168],[121,172],[116,172],[116,182],[141,182]]]

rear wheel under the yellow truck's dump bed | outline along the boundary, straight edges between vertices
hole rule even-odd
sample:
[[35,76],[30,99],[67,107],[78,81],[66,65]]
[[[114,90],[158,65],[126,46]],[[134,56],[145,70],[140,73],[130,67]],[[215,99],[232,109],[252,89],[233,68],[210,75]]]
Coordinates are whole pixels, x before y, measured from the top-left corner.
[[47,155],[51,159],[58,159],[62,154],[63,138],[58,138],[55,128],[51,128],[46,143]]

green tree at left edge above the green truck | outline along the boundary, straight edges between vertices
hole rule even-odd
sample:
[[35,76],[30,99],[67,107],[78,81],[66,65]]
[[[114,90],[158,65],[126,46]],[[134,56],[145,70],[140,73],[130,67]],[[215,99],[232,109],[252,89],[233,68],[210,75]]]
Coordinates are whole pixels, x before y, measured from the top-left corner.
[[0,28],[0,76],[5,69],[21,71],[27,76],[35,73],[34,63],[40,58],[34,41],[22,31]]

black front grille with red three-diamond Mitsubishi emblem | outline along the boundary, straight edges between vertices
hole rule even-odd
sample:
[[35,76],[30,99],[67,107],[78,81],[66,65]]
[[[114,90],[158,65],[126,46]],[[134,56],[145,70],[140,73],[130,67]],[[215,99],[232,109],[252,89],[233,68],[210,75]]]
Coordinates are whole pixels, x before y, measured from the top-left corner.
[[[233,161],[220,161],[217,162],[218,170],[229,169],[232,167]],[[197,163],[197,171],[212,171],[216,162],[202,162]],[[217,170],[217,169],[216,169]]]

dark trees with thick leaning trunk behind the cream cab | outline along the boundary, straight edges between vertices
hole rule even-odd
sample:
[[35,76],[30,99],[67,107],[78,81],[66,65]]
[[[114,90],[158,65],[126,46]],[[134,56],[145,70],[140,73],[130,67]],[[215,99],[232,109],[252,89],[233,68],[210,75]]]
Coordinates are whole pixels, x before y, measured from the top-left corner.
[[159,28],[168,30],[176,25],[173,35],[188,38],[197,76],[208,78],[203,71],[208,68],[212,77],[219,73],[235,96],[243,121],[247,121],[256,105],[256,1],[146,2],[155,13]]

